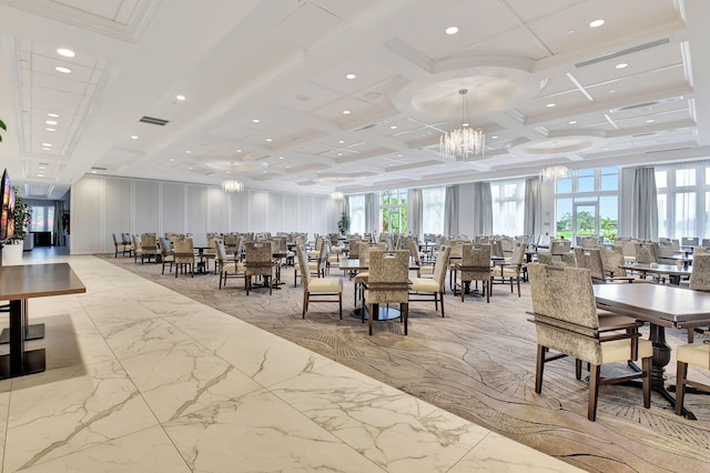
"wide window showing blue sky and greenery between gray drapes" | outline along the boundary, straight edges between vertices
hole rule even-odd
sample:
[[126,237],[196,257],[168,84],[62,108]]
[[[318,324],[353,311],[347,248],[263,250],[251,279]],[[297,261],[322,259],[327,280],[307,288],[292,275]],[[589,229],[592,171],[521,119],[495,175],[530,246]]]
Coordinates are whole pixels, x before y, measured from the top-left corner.
[[555,182],[556,236],[616,238],[619,230],[618,168],[581,169]]

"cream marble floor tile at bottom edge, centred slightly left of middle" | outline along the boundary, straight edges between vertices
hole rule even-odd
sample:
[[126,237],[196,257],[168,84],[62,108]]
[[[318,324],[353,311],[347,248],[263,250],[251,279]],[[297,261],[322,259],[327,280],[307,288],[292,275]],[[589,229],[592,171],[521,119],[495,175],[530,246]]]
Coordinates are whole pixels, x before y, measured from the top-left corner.
[[267,391],[164,423],[194,472],[384,472]]

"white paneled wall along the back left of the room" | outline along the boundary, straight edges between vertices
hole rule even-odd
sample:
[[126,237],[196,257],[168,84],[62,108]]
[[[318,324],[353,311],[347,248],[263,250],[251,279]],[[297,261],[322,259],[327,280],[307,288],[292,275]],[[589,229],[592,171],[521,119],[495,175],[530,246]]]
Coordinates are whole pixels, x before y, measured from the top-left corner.
[[327,195],[85,175],[71,188],[71,253],[113,252],[112,233],[337,232],[337,202]]

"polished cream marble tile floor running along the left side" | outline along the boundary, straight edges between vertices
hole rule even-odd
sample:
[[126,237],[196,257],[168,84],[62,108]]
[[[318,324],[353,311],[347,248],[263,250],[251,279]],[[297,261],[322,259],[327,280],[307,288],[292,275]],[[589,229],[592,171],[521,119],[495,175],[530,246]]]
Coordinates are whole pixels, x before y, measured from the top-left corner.
[[101,259],[33,253],[87,293],[30,301],[48,369],[0,381],[2,472],[576,471]]

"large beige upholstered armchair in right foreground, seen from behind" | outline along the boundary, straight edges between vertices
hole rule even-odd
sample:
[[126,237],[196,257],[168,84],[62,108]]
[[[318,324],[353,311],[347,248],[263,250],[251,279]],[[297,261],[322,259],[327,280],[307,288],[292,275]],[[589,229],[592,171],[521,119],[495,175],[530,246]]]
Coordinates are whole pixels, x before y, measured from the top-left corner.
[[[564,356],[574,356],[575,374],[581,379],[581,363],[589,365],[589,400],[587,419],[595,421],[600,384],[613,384],[641,379],[643,406],[651,404],[652,345],[640,339],[638,332],[620,333],[619,326],[610,332],[600,329],[597,304],[589,270],[582,268],[528,264],[532,296],[531,320],[537,329],[537,362],[535,392],[542,391],[545,364]],[[558,352],[549,354],[549,350]],[[642,371],[617,378],[600,378],[602,364],[641,359]]]

